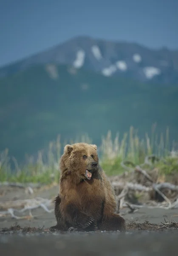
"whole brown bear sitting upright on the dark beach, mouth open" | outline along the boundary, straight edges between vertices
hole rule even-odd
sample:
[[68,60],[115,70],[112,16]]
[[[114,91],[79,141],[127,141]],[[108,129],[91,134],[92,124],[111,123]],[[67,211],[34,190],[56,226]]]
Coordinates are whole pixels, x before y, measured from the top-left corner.
[[65,145],[60,170],[57,225],[50,230],[125,230],[124,218],[115,213],[115,193],[99,166],[96,145]]

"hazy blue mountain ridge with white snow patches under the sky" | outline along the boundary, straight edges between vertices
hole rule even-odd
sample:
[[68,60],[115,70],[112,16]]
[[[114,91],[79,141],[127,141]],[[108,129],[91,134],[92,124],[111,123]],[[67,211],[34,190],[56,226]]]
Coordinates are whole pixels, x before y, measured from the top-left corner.
[[178,84],[178,50],[149,49],[139,44],[106,41],[87,36],[63,44],[0,69],[0,77],[38,64],[70,64],[73,67],[137,81]]

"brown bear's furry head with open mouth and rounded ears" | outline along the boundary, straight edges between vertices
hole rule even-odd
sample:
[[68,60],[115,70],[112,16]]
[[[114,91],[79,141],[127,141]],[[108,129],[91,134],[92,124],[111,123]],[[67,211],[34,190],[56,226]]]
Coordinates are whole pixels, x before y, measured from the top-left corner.
[[72,175],[77,181],[90,180],[99,170],[97,146],[87,143],[65,145],[60,169],[63,177]]

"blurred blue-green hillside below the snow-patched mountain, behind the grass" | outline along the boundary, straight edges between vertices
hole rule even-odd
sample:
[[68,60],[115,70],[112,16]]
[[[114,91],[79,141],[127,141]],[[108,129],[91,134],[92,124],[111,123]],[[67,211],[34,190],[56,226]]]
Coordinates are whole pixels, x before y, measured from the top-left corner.
[[61,134],[88,133],[94,143],[130,125],[144,136],[170,127],[178,140],[178,88],[108,78],[66,65],[38,65],[0,79],[0,150],[23,159]]

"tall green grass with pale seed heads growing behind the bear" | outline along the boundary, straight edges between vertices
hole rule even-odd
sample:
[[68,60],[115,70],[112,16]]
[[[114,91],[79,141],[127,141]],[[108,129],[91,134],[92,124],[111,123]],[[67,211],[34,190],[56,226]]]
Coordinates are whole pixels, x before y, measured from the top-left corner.
[[[26,163],[23,165],[19,165],[14,157],[10,158],[7,149],[4,150],[0,154],[0,181],[45,184],[53,181],[58,182],[58,163],[63,147],[66,143],[72,144],[76,142],[92,143],[92,140],[85,135],[62,144],[60,136],[58,136],[56,141],[49,143],[47,154],[39,151],[36,160],[33,157],[27,157]],[[173,146],[172,149],[174,150]],[[172,172],[178,172],[178,156],[170,157],[168,129],[165,138],[163,134],[160,134],[158,137],[153,126],[151,138],[145,134],[145,139],[142,140],[139,139],[133,127],[130,127],[130,132],[128,134],[125,133],[121,140],[119,134],[116,134],[115,139],[112,140],[111,132],[108,131],[107,136],[102,137],[101,145],[98,145],[98,152],[100,164],[108,176],[124,172],[124,169],[121,167],[122,161],[129,160],[139,165],[144,163],[147,155],[153,153],[161,158],[155,166],[158,166],[162,173],[171,174]],[[14,170],[11,169],[10,161],[14,163]]]

